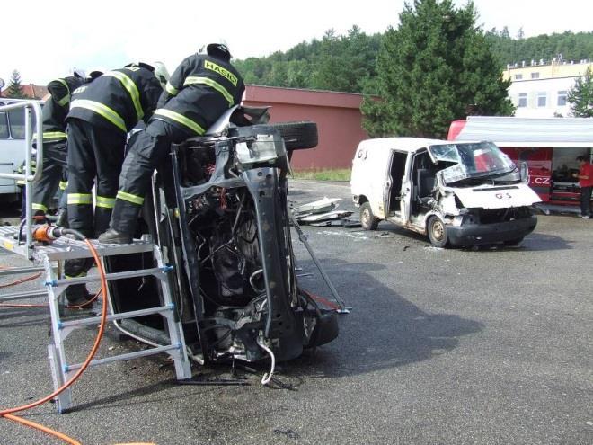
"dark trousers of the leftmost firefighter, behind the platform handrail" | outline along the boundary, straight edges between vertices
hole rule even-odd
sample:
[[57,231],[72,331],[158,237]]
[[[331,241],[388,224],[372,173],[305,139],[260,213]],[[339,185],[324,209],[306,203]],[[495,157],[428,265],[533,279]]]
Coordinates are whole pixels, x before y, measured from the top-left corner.
[[[43,170],[39,181],[33,183],[31,206],[44,213],[53,208],[53,198],[66,190],[66,139],[43,143]],[[62,200],[58,207],[62,206]]]

